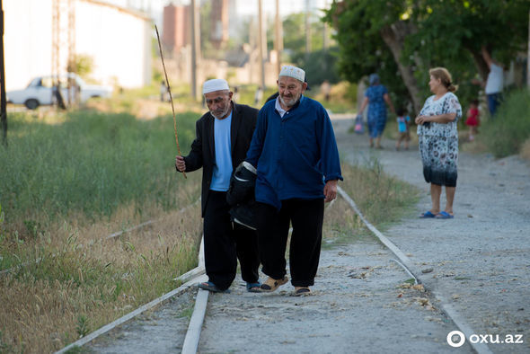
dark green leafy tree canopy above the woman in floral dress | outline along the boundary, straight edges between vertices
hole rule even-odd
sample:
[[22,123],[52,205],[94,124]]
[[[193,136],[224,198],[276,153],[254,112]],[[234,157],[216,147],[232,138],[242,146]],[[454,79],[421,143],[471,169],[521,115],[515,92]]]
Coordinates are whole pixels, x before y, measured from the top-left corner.
[[357,82],[377,72],[398,100],[408,99],[419,111],[429,67],[446,66],[456,83],[475,94],[468,83],[488,73],[482,46],[508,64],[524,48],[529,5],[530,0],[335,1],[325,21],[337,31],[343,75]]

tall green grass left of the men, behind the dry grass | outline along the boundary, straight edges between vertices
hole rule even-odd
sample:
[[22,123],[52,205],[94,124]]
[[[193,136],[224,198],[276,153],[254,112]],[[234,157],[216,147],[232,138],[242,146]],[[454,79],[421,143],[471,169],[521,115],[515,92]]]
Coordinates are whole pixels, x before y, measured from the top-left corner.
[[[190,146],[195,114],[180,114],[180,143]],[[71,113],[61,124],[10,115],[9,145],[0,146],[0,204],[6,223],[35,235],[40,220],[72,211],[111,215],[146,199],[175,208],[176,147],[171,116],[139,121],[128,114]]]

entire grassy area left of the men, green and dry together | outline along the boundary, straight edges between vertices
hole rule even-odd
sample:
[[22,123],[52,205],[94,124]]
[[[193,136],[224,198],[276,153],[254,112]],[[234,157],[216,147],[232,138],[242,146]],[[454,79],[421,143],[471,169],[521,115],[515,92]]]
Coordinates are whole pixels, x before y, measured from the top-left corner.
[[[174,171],[172,117],[10,118],[0,147],[0,269],[9,270],[0,351],[58,350],[178,287],[173,279],[196,265],[201,224],[199,204],[176,210],[199,198],[200,179]],[[182,114],[182,146],[197,118]]]

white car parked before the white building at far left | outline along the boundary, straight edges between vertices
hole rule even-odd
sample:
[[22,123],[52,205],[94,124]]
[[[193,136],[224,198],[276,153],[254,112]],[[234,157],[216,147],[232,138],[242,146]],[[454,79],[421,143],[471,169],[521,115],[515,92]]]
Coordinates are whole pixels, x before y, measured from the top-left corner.
[[[57,102],[57,98],[53,94],[54,77],[51,75],[35,77],[25,89],[7,92],[7,102],[24,104],[30,110],[35,110],[40,105],[49,105]],[[74,97],[75,93],[75,88],[72,88],[70,92],[72,94],[68,95],[68,89],[66,88],[68,78],[73,79],[75,86],[79,88],[79,99],[81,102],[85,102],[92,97],[110,97],[112,94],[111,87],[86,84],[81,77],[73,73],[59,76],[59,78],[61,93],[65,102],[68,102],[69,97]]]

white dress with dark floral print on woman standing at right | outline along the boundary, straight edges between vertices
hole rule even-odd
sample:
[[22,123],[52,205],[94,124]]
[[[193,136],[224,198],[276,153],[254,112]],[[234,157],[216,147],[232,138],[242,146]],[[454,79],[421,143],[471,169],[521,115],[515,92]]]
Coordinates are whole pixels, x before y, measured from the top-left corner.
[[457,122],[462,117],[462,107],[455,93],[446,93],[435,101],[430,96],[420,111],[420,116],[437,116],[456,113],[449,123],[428,122],[418,126],[421,162],[425,181],[446,187],[455,187],[458,164]]

